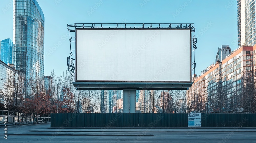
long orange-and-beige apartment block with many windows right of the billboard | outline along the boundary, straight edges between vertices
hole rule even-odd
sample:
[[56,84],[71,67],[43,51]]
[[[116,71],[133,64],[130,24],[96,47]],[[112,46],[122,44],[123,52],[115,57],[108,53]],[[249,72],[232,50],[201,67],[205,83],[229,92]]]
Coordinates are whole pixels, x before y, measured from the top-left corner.
[[[247,96],[255,81],[256,46],[242,46],[193,78],[187,90],[188,112],[249,113]],[[253,63],[254,61],[254,63]],[[255,101],[254,101],[255,102]]]

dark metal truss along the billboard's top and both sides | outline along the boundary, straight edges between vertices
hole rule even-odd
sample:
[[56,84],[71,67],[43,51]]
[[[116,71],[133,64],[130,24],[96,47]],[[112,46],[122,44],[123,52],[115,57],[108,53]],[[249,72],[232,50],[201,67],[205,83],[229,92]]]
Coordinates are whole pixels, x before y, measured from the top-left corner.
[[[196,63],[195,63],[195,50],[197,49],[196,43],[197,38],[195,36],[195,30],[196,27],[193,23],[74,23],[74,25],[69,25],[68,31],[69,31],[69,41],[70,41],[70,56],[67,58],[67,66],[68,66],[68,72],[74,76],[75,75],[75,42],[76,42],[76,29],[77,28],[124,28],[124,29],[191,29],[191,35],[192,35],[192,42],[191,42],[191,49],[192,49],[192,55],[194,54],[194,61],[191,63],[192,72],[195,73]],[[74,42],[74,43],[73,43]]]

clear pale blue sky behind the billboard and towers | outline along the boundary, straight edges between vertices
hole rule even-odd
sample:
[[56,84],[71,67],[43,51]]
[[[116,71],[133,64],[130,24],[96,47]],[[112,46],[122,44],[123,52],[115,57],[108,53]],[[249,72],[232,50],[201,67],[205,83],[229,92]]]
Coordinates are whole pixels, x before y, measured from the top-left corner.
[[[237,3],[235,0],[37,0],[45,16],[45,75],[67,70],[69,40],[67,23],[194,23],[197,50],[196,73],[215,63],[218,47],[237,48]],[[8,5],[11,5],[8,8]],[[97,7],[91,11],[91,7]],[[12,0],[0,1],[0,40],[13,39]],[[180,8],[180,9],[179,9]],[[179,10],[181,12],[177,12]],[[177,12],[177,13],[176,13]],[[175,14],[175,15],[174,15]],[[211,23],[211,25],[208,25]],[[205,28],[207,27],[208,28]],[[201,29],[207,29],[202,31]],[[63,37],[62,37],[63,36]],[[50,55],[50,49],[61,45]],[[182,55],[180,55],[182,56]]]

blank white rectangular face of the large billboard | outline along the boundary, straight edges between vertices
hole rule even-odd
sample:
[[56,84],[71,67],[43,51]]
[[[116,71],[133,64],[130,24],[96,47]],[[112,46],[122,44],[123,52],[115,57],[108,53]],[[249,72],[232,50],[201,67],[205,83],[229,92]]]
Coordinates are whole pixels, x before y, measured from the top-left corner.
[[191,81],[190,29],[77,29],[76,81]]

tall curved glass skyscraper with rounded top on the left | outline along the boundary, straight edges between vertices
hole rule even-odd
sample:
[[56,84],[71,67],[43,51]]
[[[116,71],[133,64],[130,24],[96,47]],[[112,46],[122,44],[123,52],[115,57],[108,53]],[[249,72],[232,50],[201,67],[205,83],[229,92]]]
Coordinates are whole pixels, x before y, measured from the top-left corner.
[[44,14],[36,0],[13,0],[13,63],[25,85],[30,78],[43,80]]

